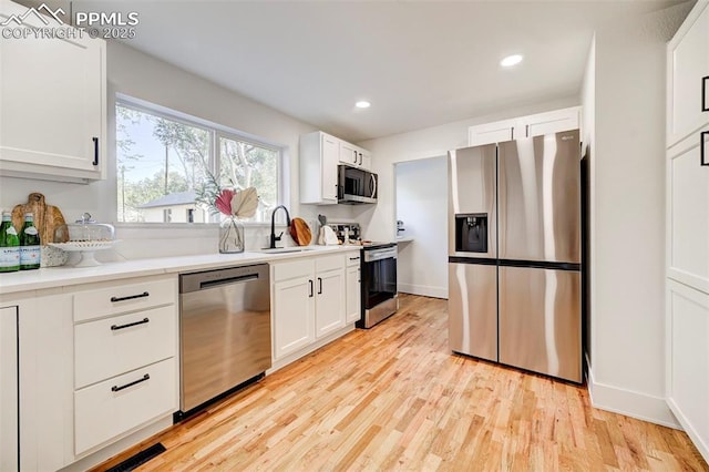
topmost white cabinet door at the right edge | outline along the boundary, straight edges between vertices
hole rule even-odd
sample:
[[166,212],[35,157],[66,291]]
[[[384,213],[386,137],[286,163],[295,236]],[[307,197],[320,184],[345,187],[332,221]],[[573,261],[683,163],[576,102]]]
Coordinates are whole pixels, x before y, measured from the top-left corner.
[[699,2],[667,51],[667,145],[709,123],[709,8]]

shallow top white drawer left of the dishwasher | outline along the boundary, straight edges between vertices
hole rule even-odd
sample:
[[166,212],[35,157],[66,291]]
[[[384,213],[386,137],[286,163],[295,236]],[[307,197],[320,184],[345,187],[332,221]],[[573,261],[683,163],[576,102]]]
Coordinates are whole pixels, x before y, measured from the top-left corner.
[[74,295],[74,321],[174,304],[176,298],[176,279],[146,280],[83,291]]

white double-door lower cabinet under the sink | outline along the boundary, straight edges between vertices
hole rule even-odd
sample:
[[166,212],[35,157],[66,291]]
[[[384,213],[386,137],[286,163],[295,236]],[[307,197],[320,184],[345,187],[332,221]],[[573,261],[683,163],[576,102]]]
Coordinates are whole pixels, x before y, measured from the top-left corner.
[[305,352],[353,322],[347,317],[346,260],[354,254],[359,257],[348,252],[273,264],[274,361]]

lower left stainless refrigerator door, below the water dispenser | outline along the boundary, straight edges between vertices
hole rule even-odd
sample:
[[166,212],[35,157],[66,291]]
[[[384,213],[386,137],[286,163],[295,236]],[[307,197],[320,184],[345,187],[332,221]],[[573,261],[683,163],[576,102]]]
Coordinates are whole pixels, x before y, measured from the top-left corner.
[[449,264],[449,343],[452,351],[497,360],[497,267]]

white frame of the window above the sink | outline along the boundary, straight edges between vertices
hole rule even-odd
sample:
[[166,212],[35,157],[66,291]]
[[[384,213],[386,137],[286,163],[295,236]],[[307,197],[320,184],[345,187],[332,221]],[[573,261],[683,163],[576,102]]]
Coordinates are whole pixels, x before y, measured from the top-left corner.
[[[239,130],[236,130],[230,126],[226,126],[219,123],[215,123],[208,120],[201,119],[198,116],[193,116],[187,113],[179,112],[177,110],[172,110],[166,106],[158,105],[156,103],[147,102],[145,100],[136,99],[130,95],[125,95],[122,93],[115,94],[115,101],[113,103],[114,113],[114,122],[117,122],[116,117],[116,107],[123,106],[126,109],[131,109],[141,113],[146,113],[153,116],[157,116],[165,120],[171,120],[176,123],[184,124],[186,126],[197,127],[204,130],[209,135],[209,146],[208,146],[208,168],[214,175],[219,175],[220,167],[220,156],[219,156],[219,138],[224,137],[233,141],[242,141],[258,147],[263,147],[277,153],[276,157],[276,195],[277,195],[277,205],[286,205],[290,204],[290,195],[287,193],[288,176],[286,176],[286,172],[288,172],[287,165],[287,146],[266,140],[260,136],[256,136]],[[113,130],[114,140],[117,137],[117,125],[114,126]],[[116,140],[117,141],[117,140]],[[116,173],[117,177],[117,144],[114,143],[114,162],[113,162],[113,171]],[[117,183],[117,178],[116,178]],[[208,227],[218,225],[220,222],[219,214],[209,214],[208,220],[204,223],[157,223],[157,222],[119,222],[119,208],[117,208],[117,188],[114,193],[116,206],[114,208],[114,217],[116,220],[116,225],[123,227],[150,227],[150,228],[175,228],[175,227]],[[267,226],[270,225],[269,222],[244,222],[245,226]]]

